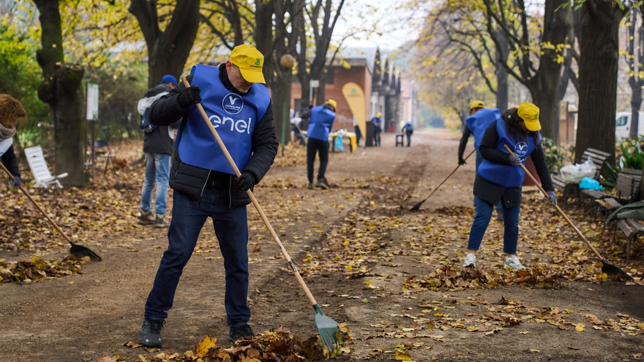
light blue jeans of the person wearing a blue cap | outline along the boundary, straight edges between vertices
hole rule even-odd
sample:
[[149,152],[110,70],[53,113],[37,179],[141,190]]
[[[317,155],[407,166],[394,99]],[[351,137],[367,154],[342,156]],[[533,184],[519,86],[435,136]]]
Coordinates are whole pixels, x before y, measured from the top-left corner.
[[156,183],[155,213],[166,215],[167,182],[170,176],[170,155],[146,153],[146,176],[141,191],[141,210],[152,211],[152,189]]

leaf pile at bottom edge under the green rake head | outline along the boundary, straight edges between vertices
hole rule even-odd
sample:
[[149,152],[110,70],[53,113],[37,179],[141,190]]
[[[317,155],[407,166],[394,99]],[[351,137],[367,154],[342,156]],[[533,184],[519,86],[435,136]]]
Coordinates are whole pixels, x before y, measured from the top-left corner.
[[[345,324],[339,325],[341,339],[350,341],[351,335]],[[184,354],[160,353],[144,356],[140,354],[137,362],[305,362],[328,357],[326,348],[321,347],[318,337],[303,338],[292,335],[290,330],[279,327],[254,337],[238,339],[231,348],[217,347],[217,339],[205,336],[194,350]],[[141,347],[138,343],[128,342],[126,347]],[[331,356],[350,353],[350,348],[339,347],[331,352]],[[124,361],[122,356],[102,357],[99,362]]]

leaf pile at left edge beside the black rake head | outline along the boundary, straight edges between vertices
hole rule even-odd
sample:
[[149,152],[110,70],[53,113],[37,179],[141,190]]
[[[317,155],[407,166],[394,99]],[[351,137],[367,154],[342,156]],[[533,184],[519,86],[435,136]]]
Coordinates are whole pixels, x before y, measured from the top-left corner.
[[81,265],[90,260],[89,256],[77,258],[66,256],[62,260],[45,262],[34,256],[29,262],[10,262],[0,260],[0,282],[31,283],[44,279],[60,278],[65,275],[79,274]]

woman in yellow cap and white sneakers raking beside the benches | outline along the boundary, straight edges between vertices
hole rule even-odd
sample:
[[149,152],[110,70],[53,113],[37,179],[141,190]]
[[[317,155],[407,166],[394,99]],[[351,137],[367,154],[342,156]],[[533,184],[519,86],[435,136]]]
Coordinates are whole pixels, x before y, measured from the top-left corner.
[[[553,181],[545,164],[544,149],[540,146],[539,108],[534,104],[521,102],[518,108],[511,108],[492,122],[478,146],[484,158],[474,181],[474,199],[477,213],[469,232],[468,254],[463,267],[476,267],[476,252],[488,228],[492,209],[499,201],[503,204],[505,225],[503,251],[506,253],[505,266],[514,270],[525,269],[516,257],[518,222],[521,205],[521,184],[524,171],[520,166],[531,157],[541,184],[553,204]],[[515,153],[510,156],[504,146]]]

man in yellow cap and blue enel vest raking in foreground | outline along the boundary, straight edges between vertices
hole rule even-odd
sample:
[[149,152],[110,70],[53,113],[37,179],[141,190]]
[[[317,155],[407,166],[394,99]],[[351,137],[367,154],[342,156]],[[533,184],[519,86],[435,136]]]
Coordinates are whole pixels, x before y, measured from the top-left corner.
[[[193,254],[199,233],[210,216],[225,268],[224,305],[229,339],[253,336],[248,325],[248,224],[251,190],[269,171],[278,140],[269,90],[262,86],[264,56],[249,45],[236,46],[219,67],[198,64],[183,84],[156,100],[150,122],[167,126],[182,119],[172,159],[170,187],[173,217],[168,248],[146,301],[141,341],[160,347],[161,327],[175,297],[179,277]],[[194,104],[201,103],[218,135],[242,171],[234,176]]]

